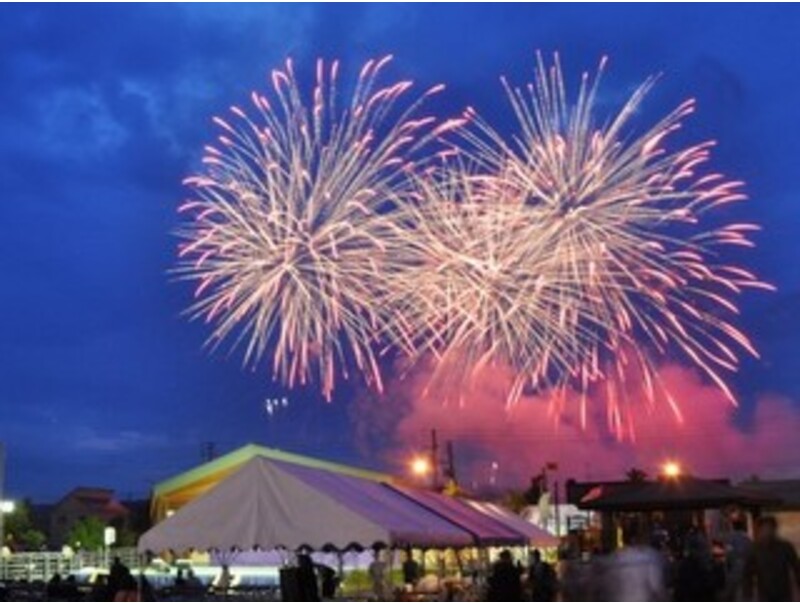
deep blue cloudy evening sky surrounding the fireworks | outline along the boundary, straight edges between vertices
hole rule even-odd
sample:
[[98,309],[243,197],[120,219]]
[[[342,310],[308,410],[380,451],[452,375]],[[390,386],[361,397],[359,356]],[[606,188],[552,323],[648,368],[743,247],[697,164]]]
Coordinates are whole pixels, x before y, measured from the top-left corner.
[[[446,82],[445,105],[489,116],[498,75],[527,77],[536,49],[569,73],[611,67],[620,97],[664,77],[648,104],[700,102],[695,138],[742,176],[766,232],[749,263],[780,292],[745,303],[764,351],[744,398],[800,400],[800,10],[778,6],[8,6],[0,8],[0,440],[16,494],[78,483],[144,495],[152,480],[249,440],[355,458],[348,398],[283,395],[237,357],[208,355],[169,282],[181,179],[212,133],[287,55]],[[800,412],[800,411],[799,411]]]

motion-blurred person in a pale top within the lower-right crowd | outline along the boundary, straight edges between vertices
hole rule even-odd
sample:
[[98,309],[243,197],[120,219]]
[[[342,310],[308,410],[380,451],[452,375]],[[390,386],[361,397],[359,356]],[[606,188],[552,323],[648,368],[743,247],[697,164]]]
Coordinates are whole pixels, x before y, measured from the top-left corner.
[[624,530],[625,546],[603,564],[597,601],[666,601],[664,559],[647,544],[639,522]]

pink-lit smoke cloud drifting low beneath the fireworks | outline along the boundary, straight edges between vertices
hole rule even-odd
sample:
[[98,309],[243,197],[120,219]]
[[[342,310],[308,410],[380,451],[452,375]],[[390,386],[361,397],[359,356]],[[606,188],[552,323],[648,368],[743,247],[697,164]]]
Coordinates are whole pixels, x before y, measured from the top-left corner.
[[429,367],[417,368],[390,383],[390,394],[357,405],[359,441],[366,450],[387,451],[398,469],[414,451],[427,449],[434,428],[455,443],[461,476],[473,486],[490,475],[507,485],[526,483],[548,462],[577,479],[618,479],[631,467],[653,473],[668,459],[705,477],[787,476],[800,464],[800,413],[790,400],[762,396],[742,426],[741,414],[715,387],[677,365],[662,366],[659,377],[680,401],[683,420],[667,404],[649,407],[632,388],[637,429],[635,439],[625,441],[609,431],[597,394],[584,427],[574,399],[558,418],[548,392],[506,408],[508,375],[499,369],[484,371],[462,392],[426,393],[429,377]]

